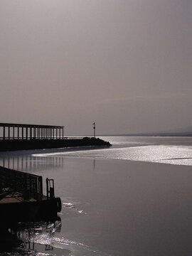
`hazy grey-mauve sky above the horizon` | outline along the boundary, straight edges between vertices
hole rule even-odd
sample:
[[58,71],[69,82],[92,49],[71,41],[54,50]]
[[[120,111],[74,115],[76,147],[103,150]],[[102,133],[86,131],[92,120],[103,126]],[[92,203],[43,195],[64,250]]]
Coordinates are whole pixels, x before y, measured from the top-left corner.
[[1,0],[0,122],[192,125],[191,0]]

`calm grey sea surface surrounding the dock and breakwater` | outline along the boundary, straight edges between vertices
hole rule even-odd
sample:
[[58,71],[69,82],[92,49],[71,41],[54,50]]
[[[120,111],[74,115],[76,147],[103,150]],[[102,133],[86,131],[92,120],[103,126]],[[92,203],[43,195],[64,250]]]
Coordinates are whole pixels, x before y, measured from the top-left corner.
[[114,146],[1,153],[4,166],[54,178],[63,203],[59,225],[24,229],[28,253],[191,255],[192,138],[105,139]]

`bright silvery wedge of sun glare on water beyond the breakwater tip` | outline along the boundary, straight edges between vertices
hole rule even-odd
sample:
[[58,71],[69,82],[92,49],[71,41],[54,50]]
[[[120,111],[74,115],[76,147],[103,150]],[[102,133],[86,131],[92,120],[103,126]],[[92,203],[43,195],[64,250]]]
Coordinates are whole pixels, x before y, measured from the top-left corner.
[[174,145],[146,145],[85,151],[65,151],[53,154],[34,154],[33,156],[122,159],[131,161],[150,161],[163,164],[192,165],[192,147]]

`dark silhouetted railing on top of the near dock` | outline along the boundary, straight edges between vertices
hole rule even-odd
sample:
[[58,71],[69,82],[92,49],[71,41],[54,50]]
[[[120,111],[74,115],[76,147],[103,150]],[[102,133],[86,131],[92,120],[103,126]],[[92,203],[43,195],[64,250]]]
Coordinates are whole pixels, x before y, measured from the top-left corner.
[[10,195],[19,193],[21,198],[27,200],[30,198],[41,199],[43,196],[42,176],[0,166],[0,193],[5,191],[8,191]]

